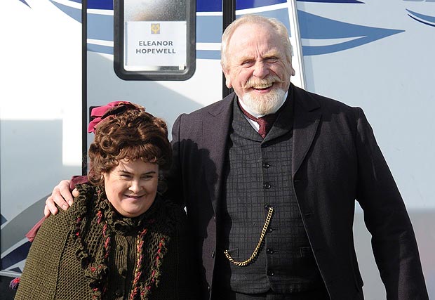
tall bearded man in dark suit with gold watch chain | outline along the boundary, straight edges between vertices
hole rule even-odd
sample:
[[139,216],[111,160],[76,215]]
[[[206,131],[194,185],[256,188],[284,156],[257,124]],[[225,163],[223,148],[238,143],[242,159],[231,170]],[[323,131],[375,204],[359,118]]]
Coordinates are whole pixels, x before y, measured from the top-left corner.
[[[168,197],[186,205],[203,299],[363,299],[358,200],[387,299],[428,299],[406,208],[363,111],[290,84],[286,28],[246,15],[222,36],[235,93],[173,126]],[[269,128],[270,127],[270,128]],[[47,201],[72,200],[62,181]]]

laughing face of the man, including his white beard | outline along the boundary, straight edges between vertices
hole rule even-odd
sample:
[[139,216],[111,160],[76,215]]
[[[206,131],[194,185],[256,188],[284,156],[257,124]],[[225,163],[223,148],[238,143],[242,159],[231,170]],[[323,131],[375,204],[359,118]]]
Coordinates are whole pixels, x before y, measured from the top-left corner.
[[[279,35],[267,24],[243,24],[227,47],[226,83],[258,115],[281,105],[294,74]],[[279,99],[276,99],[279,98]]]

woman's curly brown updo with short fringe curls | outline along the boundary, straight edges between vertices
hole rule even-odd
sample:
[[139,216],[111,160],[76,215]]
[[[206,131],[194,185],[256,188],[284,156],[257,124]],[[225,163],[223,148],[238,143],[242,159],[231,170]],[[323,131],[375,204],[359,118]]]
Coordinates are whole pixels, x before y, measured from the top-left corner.
[[126,110],[119,115],[110,111],[98,124],[95,138],[89,147],[90,169],[88,178],[95,185],[102,185],[102,174],[112,170],[121,159],[142,159],[168,169],[172,162],[172,149],[168,128],[163,119],[145,112],[145,108]]

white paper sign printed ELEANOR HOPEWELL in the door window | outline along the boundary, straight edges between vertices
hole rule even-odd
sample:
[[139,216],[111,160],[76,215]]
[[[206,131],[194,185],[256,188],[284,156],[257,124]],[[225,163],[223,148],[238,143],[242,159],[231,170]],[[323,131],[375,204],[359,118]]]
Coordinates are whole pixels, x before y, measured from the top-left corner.
[[187,23],[185,21],[132,21],[125,25],[125,69],[178,67],[187,64]]

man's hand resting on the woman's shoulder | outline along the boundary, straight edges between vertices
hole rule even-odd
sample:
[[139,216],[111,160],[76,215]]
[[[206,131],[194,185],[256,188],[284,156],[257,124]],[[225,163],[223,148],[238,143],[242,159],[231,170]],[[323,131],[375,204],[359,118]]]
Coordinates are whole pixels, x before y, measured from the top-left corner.
[[58,204],[58,206],[62,207],[63,210],[67,210],[68,207],[72,205],[72,196],[79,195],[79,192],[76,189],[71,193],[69,190],[70,182],[71,181],[69,180],[60,181],[60,183],[53,188],[51,196],[46,200],[46,207],[44,207],[44,215],[46,217],[50,216],[50,214],[58,214],[58,207],[56,207],[55,204]]

